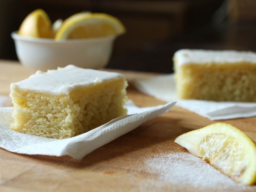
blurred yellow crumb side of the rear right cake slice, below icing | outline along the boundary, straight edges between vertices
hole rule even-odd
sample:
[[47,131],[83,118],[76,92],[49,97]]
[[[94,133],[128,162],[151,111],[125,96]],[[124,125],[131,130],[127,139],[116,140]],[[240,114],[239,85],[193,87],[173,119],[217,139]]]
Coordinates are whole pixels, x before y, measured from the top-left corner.
[[256,101],[254,63],[206,63],[175,68],[180,99]]

